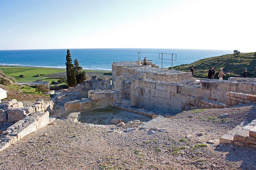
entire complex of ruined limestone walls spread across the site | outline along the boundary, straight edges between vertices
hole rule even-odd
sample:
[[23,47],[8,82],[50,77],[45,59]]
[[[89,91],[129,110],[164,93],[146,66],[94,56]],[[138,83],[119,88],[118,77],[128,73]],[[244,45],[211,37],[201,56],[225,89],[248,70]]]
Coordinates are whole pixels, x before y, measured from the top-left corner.
[[[112,79],[92,77],[75,88],[56,93],[49,102],[37,100],[32,106],[23,107],[16,100],[1,103],[0,121],[8,128],[2,128],[0,148],[48,124],[49,116],[77,122],[80,112],[113,106],[152,118],[168,118],[192,109],[254,103],[256,78],[199,79],[193,78],[191,72],[159,69],[138,62],[113,62]],[[123,119],[111,122],[118,126],[125,123]],[[243,122],[221,137],[220,143],[256,145],[255,125],[256,120]]]

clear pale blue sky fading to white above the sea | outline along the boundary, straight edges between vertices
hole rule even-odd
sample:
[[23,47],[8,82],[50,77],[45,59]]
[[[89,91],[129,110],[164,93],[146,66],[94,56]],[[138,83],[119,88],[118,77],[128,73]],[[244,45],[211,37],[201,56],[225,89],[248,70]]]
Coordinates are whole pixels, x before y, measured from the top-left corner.
[[255,52],[254,0],[0,0],[0,49]]

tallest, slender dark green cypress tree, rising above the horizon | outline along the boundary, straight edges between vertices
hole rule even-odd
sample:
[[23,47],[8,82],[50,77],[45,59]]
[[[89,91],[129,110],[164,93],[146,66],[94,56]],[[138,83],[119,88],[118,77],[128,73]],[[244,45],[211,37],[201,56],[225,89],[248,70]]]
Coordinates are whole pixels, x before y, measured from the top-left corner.
[[69,49],[67,50],[66,55],[66,70],[67,70],[67,79],[68,79],[68,86],[75,87],[76,86],[76,73],[74,69],[74,65],[72,63],[72,58]]

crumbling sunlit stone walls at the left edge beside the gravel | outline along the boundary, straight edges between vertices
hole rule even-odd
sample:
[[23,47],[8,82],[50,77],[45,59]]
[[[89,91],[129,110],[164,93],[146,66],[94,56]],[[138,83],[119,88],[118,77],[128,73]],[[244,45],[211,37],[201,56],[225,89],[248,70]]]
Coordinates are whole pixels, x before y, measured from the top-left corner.
[[37,99],[32,106],[23,107],[22,102],[6,100],[0,104],[0,152],[31,132],[53,121],[49,119],[52,101]]

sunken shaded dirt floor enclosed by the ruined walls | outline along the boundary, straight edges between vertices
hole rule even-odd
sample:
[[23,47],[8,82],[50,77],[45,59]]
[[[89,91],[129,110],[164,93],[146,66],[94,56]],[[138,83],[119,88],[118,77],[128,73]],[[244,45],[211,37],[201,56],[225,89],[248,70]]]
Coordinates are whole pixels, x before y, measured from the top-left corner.
[[81,119],[79,122],[100,125],[114,125],[111,123],[113,118],[124,119],[124,123],[134,120],[140,120],[140,122],[148,122],[152,119],[150,116],[140,115],[115,107],[107,107],[103,109],[81,112]]

